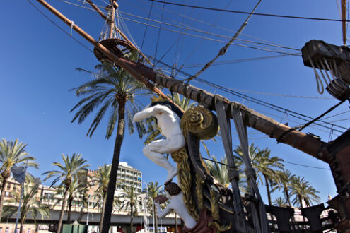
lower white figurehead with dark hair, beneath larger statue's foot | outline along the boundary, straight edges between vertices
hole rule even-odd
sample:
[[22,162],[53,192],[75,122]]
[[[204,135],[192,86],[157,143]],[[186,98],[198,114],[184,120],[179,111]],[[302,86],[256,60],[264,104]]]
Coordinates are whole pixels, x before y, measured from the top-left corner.
[[197,222],[187,211],[181,188],[176,183],[170,182],[165,185],[164,190],[169,203],[164,210],[161,210],[160,203],[165,202],[166,198],[155,198],[154,205],[156,205],[158,217],[165,217],[171,210],[174,210],[184,221],[187,228],[194,228],[197,225]]

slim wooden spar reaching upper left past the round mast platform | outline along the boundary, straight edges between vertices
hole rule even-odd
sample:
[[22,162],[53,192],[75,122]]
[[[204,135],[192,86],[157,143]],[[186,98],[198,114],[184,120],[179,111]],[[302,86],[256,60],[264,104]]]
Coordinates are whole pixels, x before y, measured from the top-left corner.
[[[44,0],[37,0],[40,4],[42,4],[42,6],[45,6],[45,8],[47,8],[49,11],[51,11],[52,13],[54,13],[55,16],[57,16],[59,19],[61,19],[62,21],[64,21],[64,23],[66,23],[66,25],[69,25],[70,27],[72,27],[76,32],[79,33],[79,35],[81,35],[84,39],[86,39],[88,42],[90,42],[91,44],[93,44],[95,47],[97,47],[98,49],[100,49],[101,52],[103,52],[103,54],[105,54],[105,56],[107,56],[111,61],[115,61],[115,64],[117,64],[118,66],[121,66],[122,68],[124,68],[124,70],[126,70],[128,73],[130,73],[132,76],[134,76],[134,78],[136,78],[137,80],[141,81],[141,83],[144,83],[146,85],[146,87],[151,90],[152,92],[156,93],[157,95],[161,95],[161,97],[165,98],[166,100],[168,100],[169,102],[173,102],[173,100],[171,100],[167,95],[165,95],[161,90],[159,90],[158,88],[156,88],[152,83],[150,83],[146,78],[144,78],[143,76],[141,76],[140,73],[136,73],[136,71],[134,70],[134,68],[130,67],[129,65],[127,65],[127,63],[125,61],[127,61],[127,59],[124,58],[119,58],[117,56],[115,56],[115,54],[112,54],[112,52],[110,52],[108,49],[106,49],[102,44],[100,44],[97,40],[93,39],[93,37],[91,37],[91,35],[88,35],[88,33],[86,33],[84,30],[82,30],[81,28],[79,28],[76,24],[73,24],[73,22],[71,20],[69,20],[69,18],[66,18],[66,16],[64,16],[62,13],[60,13],[59,11],[57,11],[57,9],[55,9],[54,7],[52,7],[51,5],[49,5],[46,1]],[[175,104],[175,103],[173,103]],[[176,104],[175,104],[176,105]]]

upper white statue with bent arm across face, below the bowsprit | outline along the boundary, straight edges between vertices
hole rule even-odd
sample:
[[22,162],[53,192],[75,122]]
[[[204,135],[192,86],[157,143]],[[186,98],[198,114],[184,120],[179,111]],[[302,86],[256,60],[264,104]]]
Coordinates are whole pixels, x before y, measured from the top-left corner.
[[185,145],[185,137],[180,129],[180,118],[182,112],[170,102],[152,102],[149,107],[134,115],[134,121],[141,121],[148,117],[156,117],[157,124],[165,139],[153,141],[142,150],[156,165],[168,170],[165,184],[177,174],[177,169],[170,164],[163,155],[180,150]]

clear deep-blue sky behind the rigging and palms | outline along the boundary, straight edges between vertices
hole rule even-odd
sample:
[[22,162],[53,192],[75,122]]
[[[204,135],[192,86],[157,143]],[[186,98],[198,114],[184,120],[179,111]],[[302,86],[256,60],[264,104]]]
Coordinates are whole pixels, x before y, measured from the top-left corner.
[[[87,4],[83,4],[78,0],[68,1],[88,7]],[[59,0],[48,2],[98,40],[104,23],[97,13]],[[257,1],[178,2],[236,11],[251,11]],[[58,18],[40,4],[37,4],[36,1],[33,0],[33,3],[40,8],[40,11],[43,11],[69,33],[68,26],[61,23]],[[95,3],[106,6],[103,0],[95,0]],[[171,48],[162,61],[170,65],[176,64],[177,67],[184,64],[183,71],[187,73],[196,73],[200,67],[189,68],[186,65],[203,64],[210,61],[224,45],[222,42],[204,40],[167,30],[161,30],[157,43],[158,28],[148,27],[144,37],[146,26],[131,20],[143,23],[146,23],[146,20],[125,14],[131,13],[147,18],[151,2],[147,0],[120,0],[118,4],[119,11],[123,12],[124,21],[136,44],[141,47],[144,41],[142,51],[151,56],[156,54],[156,57],[160,59]],[[161,20],[162,8],[163,4],[154,3],[151,19]],[[329,0],[265,0],[259,5],[257,12],[339,19],[336,1]],[[186,17],[182,17],[183,15]],[[196,20],[192,20],[192,18]],[[233,36],[234,31],[238,30],[245,18],[245,15],[235,13],[220,13],[168,5],[165,5],[163,14],[165,23],[177,25],[182,23],[199,30],[227,37]],[[60,154],[62,153],[69,155],[71,153],[83,154],[83,157],[88,160],[88,164],[91,165],[91,169],[97,169],[100,165],[110,163],[115,136],[112,136],[109,141],[105,139],[106,121],[101,122],[92,138],[88,138],[86,132],[91,123],[91,117],[88,117],[86,122],[81,125],[71,124],[74,114],[69,112],[79,100],[74,92],[69,92],[69,90],[92,78],[86,73],[76,71],[75,68],[85,68],[93,71],[94,66],[98,64],[93,53],[49,22],[28,1],[1,1],[0,19],[2,31],[0,37],[0,138],[6,138],[8,141],[18,138],[23,143],[28,143],[28,152],[30,155],[37,157],[37,162],[40,163],[39,170],[30,170],[36,176],[52,169],[52,162],[61,161]],[[156,26],[159,25],[159,23],[152,21],[150,23]],[[228,40],[214,35],[173,28],[170,25],[162,25],[162,27],[187,34],[210,37],[215,40]],[[285,47],[301,49],[305,42],[312,39],[325,40],[325,42],[340,45],[342,44],[341,31],[341,23],[339,22],[252,16],[239,39],[267,44],[281,44]],[[86,44],[88,48],[93,49],[76,32],[73,32],[72,35]],[[257,47],[257,45],[268,47],[263,44],[236,42],[251,47]],[[273,47],[273,49],[284,53],[298,52],[280,47]],[[279,53],[232,45],[218,61],[274,55],[279,55]],[[159,68],[165,67],[159,66]],[[165,70],[164,72],[168,71]],[[178,74],[177,78],[183,77]],[[240,90],[245,95],[310,117],[317,117],[337,103],[337,100],[332,99],[327,92],[324,95],[318,94],[313,70],[303,66],[301,56],[282,56],[273,59],[211,66],[200,78],[226,88]],[[210,92],[224,95],[230,100],[246,104],[257,112],[276,119],[276,121],[282,123],[288,121],[289,126],[301,125],[306,122],[291,117],[290,114],[284,114],[284,111],[275,111],[228,92],[216,90],[195,80],[192,81],[192,84]],[[299,97],[285,97],[282,95]],[[310,99],[301,96],[320,98]],[[142,101],[144,104],[148,103],[147,99]],[[349,128],[350,121],[344,120],[349,118],[349,112],[331,117],[334,114],[349,111],[348,106],[347,103],[342,104],[334,112],[328,114],[326,117],[330,118],[325,119],[325,121],[336,121],[334,124]],[[329,141],[330,130],[325,127],[313,125],[304,129],[304,131],[320,136],[322,141]],[[344,129],[341,129],[341,131],[344,131]],[[275,140],[254,129],[248,129],[248,133],[250,143],[255,143],[259,148],[270,148],[272,155],[279,156],[286,162],[325,168],[315,169],[285,163],[286,167],[294,174],[304,176],[307,181],[313,184],[315,189],[320,191],[323,202],[327,201],[328,194],[336,195],[332,174],[327,170],[329,168],[327,164],[288,145],[276,144]],[[332,139],[339,135],[339,132],[334,131]],[[234,145],[237,145],[236,133],[233,133],[233,139]],[[139,140],[136,135],[129,136],[126,134],[122,145],[121,161],[128,162],[132,167],[140,169],[143,172],[144,181],[159,181],[162,184],[166,175],[165,170],[149,161],[142,154],[142,148],[143,141]],[[209,150],[212,155],[219,159],[224,155],[220,140],[216,143],[209,141]],[[47,182],[47,184],[49,183]],[[261,190],[265,197],[264,188]],[[279,193],[274,193],[273,198],[277,196],[279,196]]]

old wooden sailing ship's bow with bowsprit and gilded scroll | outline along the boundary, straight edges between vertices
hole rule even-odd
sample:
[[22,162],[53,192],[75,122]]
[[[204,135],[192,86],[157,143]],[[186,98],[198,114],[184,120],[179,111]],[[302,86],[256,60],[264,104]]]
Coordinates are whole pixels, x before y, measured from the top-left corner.
[[[93,39],[46,1],[37,1],[88,42],[91,42],[95,47],[94,54],[100,61],[107,61],[124,68],[165,100],[171,101],[156,86],[168,88],[172,92],[177,92],[198,102],[199,105],[187,110],[181,120],[187,145],[172,155],[178,165],[178,180],[186,198],[187,210],[194,219],[204,218],[207,225],[212,227],[212,232],[324,232],[333,228],[339,232],[350,232],[350,131],[326,143],[313,134],[303,133],[280,124],[243,104],[231,102],[225,97],[214,95],[164,73],[154,71],[152,66],[128,59],[126,55],[134,51],[144,57],[145,63],[151,64],[122,32],[118,30],[122,39],[112,38],[112,28],[115,28],[115,25],[112,25],[114,20],[107,18],[91,0],[87,0],[88,3],[111,24],[110,37],[100,42]],[[117,7],[116,2],[112,0],[110,11],[114,11]],[[312,67],[316,75],[317,71],[325,73],[331,71],[332,78],[329,78],[329,82],[326,83],[326,90],[342,102],[349,100],[350,49],[311,40],[305,44],[302,52],[305,66]],[[318,76],[321,75],[318,74]],[[323,73],[322,76],[324,76]],[[293,222],[293,208],[264,205],[259,190],[256,189],[255,172],[251,169],[250,159],[247,157],[245,162],[251,190],[249,194],[241,196],[237,189],[238,172],[233,157],[229,156],[232,148],[229,146],[231,132],[228,131],[228,121],[232,118],[238,134],[241,134],[240,141],[243,144],[247,137],[244,133],[245,127],[252,127],[276,139],[279,143],[285,143],[318,160],[327,162],[332,169],[338,195],[326,203],[327,207],[322,203],[309,208],[301,208],[301,213],[308,218],[308,222]],[[219,185],[209,174],[199,151],[199,141],[214,137],[218,133],[218,126],[220,126],[221,136],[227,147],[226,155],[228,155],[232,189]],[[320,219],[320,213],[326,208],[332,210],[329,210],[328,217]]]

